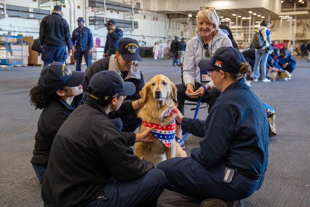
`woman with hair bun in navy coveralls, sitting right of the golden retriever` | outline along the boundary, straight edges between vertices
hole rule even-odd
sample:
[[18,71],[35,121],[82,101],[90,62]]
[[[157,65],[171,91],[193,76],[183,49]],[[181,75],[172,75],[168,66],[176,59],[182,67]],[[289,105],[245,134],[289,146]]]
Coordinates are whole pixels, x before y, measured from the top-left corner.
[[[204,200],[201,206],[242,206],[258,190],[268,164],[268,117],[263,104],[246,85],[251,69],[239,50],[218,48],[201,60],[214,87],[223,91],[205,121],[176,119],[185,132],[201,137],[190,157],[157,165],[166,174],[166,189]],[[223,118],[225,117],[225,118]],[[175,176],[178,175],[178,176]]]

